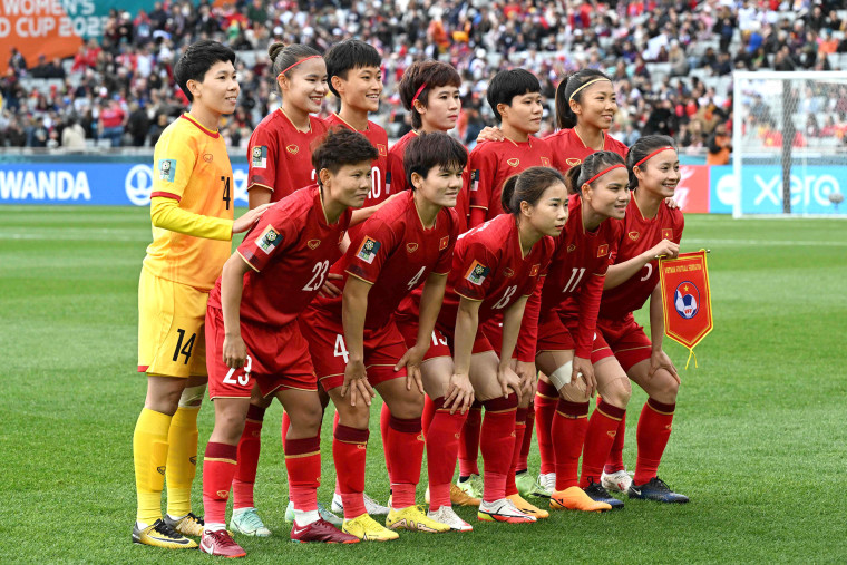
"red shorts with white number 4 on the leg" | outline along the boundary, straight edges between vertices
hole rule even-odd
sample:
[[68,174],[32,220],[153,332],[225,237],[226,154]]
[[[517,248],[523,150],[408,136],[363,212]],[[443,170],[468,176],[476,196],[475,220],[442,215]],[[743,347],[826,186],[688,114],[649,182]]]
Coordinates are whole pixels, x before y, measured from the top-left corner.
[[[341,321],[312,309],[303,312],[299,320],[321,386],[324,390],[341,387],[344,383],[344,368],[350,359]],[[364,369],[372,387],[406,378],[406,368],[395,371],[395,366],[408,348],[393,320],[379,329],[366,328],[363,337]]]

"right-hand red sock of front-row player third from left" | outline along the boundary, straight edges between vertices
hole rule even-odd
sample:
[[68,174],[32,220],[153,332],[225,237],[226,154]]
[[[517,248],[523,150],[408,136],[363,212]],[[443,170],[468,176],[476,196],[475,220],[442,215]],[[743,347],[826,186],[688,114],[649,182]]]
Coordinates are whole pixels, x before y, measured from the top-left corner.
[[485,418],[479,447],[483,451],[483,498],[493,503],[506,496],[508,475],[515,451],[515,411],[517,396],[483,402]]

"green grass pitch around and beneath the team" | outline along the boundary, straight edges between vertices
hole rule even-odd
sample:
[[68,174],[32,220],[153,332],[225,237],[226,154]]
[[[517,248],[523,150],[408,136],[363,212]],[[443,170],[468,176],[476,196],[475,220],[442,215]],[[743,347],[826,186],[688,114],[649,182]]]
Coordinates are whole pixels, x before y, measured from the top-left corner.
[[[212,563],[134,546],[132,436],[137,284],[148,212],[0,206],[0,562]],[[660,476],[685,506],[626,501],[535,525],[401,534],[350,547],[289,542],[281,409],[265,418],[256,500],[274,535],[240,538],[252,563],[847,562],[847,223],[690,215],[683,251],[709,247],[715,328],[682,371]],[[643,313],[642,313],[643,314]],[[645,316],[641,315],[641,320]],[[681,368],[687,352],[666,340]],[[635,387],[636,388],[636,387]],[[635,462],[630,405],[625,461]],[[368,493],[388,494],[374,406]],[[323,485],[334,483],[329,427]],[[201,446],[213,408],[199,417]],[[201,447],[202,454],[203,447]],[[530,469],[537,471],[537,450]],[[846,481],[847,483],[847,481]],[[202,508],[201,477],[194,505]],[[426,475],[419,489],[422,489]]]

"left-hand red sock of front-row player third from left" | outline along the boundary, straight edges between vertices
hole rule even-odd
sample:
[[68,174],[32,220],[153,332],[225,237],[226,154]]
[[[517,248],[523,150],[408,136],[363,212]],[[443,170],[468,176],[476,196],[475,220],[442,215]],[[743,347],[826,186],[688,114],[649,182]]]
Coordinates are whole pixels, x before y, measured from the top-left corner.
[[[432,421],[427,431],[427,471],[429,474],[429,509],[450,506],[450,484],[459,452],[459,434],[468,412],[444,408],[444,397],[430,400]],[[426,409],[425,409],[426,412]]]

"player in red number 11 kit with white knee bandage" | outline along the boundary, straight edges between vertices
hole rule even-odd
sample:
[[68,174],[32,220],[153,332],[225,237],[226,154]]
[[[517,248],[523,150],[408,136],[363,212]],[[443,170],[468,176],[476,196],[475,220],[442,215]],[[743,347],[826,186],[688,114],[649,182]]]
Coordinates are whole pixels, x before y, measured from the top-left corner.
[[[552,426],[556,489],[551,507],[607,510],[622,503],[598,485],[612,446],[606,431],[615,431],[626,410],[630,383],[596,331],[596,320],[606,269],[622,230],[620,222],[611,218],[624,217],[629,177],[620,155],[598,152],[572,167],[567,182],[568,191],[575,193],[569,198],[567,226],[556,241],[544,286],[530,301],[534,309],[539,304],[542,312],[536,363],[561,397]],[[603,402],[590,427],[588,399],[595,389],[603,394]],[[586,439],[588,429],[593,434]],[[592,497],[577,486],[584,441],[583,469],[590,461],[597,468],[586,485],[596,490]]]

